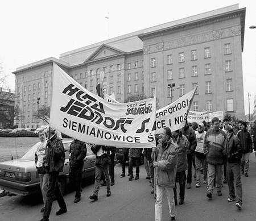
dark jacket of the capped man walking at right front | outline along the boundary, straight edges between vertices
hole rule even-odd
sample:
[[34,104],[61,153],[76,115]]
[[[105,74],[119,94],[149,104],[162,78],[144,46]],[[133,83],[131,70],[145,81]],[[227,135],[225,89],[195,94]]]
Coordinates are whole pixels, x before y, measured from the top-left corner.
[[242,147],[239,138],[232,134],[227,135],[225,155],[228,162],[240,162],[242,158]]

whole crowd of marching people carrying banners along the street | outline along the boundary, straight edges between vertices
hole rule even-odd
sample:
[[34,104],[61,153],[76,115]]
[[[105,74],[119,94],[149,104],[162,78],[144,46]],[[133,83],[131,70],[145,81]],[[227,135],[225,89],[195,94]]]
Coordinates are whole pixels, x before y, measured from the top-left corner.
[[[235,201],[238,209],[242,207],[241,174],[249,176],[249,156],[256,148],[255,123],[230,123],[224,118],[221,122],[213,118],[210,123],[192,124],[186,122],[181,130],[171,131],[166,127],[162,135],[156,136],[155,148],[123,148],[121,178],[126,177],[126,161],[129,161],[128,181],[139,180],[141,156],[151,183],[151,194],[155,194],[155,220],[162,220],[163,195],[167,195],[171,220],[175,220],[175,206],[183,205],[185,189],[191,189],[192,179],[195,187],[207,185],[205,193],[213,198],[213,190],[221,197],[223,184],[228,184],[228,202]],[[249,127],[249,128],[248,128]],[[40,178],[44,206],[41,221],[49,220],[53,200],[60,210],[56,215],[67,212],[67,205],[57,185],[59,173],[63,171],[65,152],[61,138],[55,130],[50,130],[47,139],[44,131],[39,132],[40,141],[35,151],[35,166]],[[98,200],[100,186],[106,186],[106,197],[111,196],[114,180],[115,147],[92,145],[96,155],[96,175],[93,194],[89,199]],[[74,139],[69,147],[69,180],[75,189],[74,203],[81,200],[81,177],[86,144]],[[135,165],[135,173],[133,166]],[[194,168],[194,170],[192,170]],[[195,171],[195,173],[193,172]],[[178,188],[179,187],[179,188]],[[179,202],[177,193],[179,192]]]

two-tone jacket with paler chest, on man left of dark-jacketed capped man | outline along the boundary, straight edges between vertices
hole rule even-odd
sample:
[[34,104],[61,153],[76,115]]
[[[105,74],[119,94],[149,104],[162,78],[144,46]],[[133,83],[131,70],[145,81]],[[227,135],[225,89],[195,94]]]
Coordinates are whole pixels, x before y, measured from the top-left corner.
[[204,153],[209,164],[224,164],[226,134],[222,130],[210,128],[204,137]]

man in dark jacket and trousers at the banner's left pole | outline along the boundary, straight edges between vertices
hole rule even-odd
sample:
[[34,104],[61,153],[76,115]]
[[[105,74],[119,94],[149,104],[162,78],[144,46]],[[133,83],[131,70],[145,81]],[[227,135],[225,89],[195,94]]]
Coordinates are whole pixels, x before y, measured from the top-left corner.
[[48,190],[46,194],[46,206],[41,221],[48,221],[52,209],[53,200],[57,199],[60,210],[56,215],[61,215],[67,212],[67,206],[61,194],[57,178],[59,173],[63,171],[65,161],[65,151],[61,139],[57,136],[55,130],[51,130],[51,138],[47,141],[46,158],[44,160],[44,167],[49,174]]

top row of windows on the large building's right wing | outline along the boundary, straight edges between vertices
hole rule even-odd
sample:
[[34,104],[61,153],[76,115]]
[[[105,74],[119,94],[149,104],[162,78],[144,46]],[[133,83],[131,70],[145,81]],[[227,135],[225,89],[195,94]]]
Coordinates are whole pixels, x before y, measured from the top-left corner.
[[[224,55],[230,55],[230,54],[231,54],[230,43],[224,44]],[[204,48],[204,58],[205,59],[210,58],[210,47]],[[197,60],[197,50],[196,49],[191,51],[191,60],[192,61]],[[179,53],[179,63],[181,63],[181,62],[185,62],[185,53],[184,52]],[[173,64],[172,55],[167,55],[167,64]],[[150,66],[151,66],[151,68],[156,67],[155,57],[153,57],[150,60]]]

